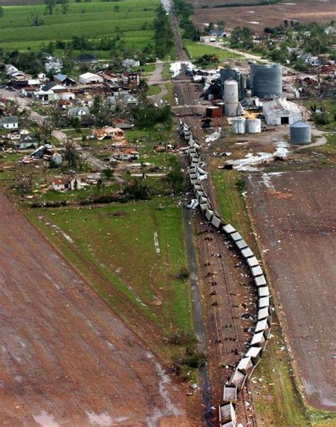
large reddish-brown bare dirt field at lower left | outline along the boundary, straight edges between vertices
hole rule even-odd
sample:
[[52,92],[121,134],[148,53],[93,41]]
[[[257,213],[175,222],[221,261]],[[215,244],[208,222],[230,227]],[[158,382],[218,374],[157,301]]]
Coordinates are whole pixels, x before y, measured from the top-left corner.
[[0,425],[194,426],[185,392],[0,193]]

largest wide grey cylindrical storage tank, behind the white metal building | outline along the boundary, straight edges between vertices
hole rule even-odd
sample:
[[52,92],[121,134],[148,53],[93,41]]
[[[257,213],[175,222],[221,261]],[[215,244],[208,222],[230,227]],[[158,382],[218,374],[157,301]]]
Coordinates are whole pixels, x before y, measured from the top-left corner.
[[282,96],[282,67],[276,64],[250,65],[252,96]]

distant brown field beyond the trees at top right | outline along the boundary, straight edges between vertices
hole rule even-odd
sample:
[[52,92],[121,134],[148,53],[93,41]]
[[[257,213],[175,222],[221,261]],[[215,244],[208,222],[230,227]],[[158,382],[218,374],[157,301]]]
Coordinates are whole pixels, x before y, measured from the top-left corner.
[[336,19],[335,1],[289,1],[269,6],[241,6],[215,9],[195,9],[194,21],[203,28],[205,23],[225,21],[225,28],[248,26],[256,33],[265,27],[284,23],[284,19],[303,23],[326,23]]

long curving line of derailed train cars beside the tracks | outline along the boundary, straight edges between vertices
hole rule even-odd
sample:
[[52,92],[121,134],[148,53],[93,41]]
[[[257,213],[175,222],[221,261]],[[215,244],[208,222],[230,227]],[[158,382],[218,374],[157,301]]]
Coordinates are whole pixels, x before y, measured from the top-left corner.
[[257,323],[254,326],[254,334],[250,340],[247,352],[237,363],[230,379],[224,386],[223,403],[220,404],[218,408],[220,426],[236,427],[235,401],[237,400],[237,392],[244,387],[246,380],[252,375],[254,368],[257,366],[260,357],[262,357],[264,353],[269,338],[271,330],[270,292],[262,267],[259,265],[259,261],[249,245],[235,227],[225,223],[225,221],[220,218],[220,215],[212,208],[211,201],[208,199],[201,184],[202,178],[200,171],[205,173],[200,168],[201,147],[198,141],[193,138],[189,126],[183,121],[180,121],[180,135],[189,144],[189,178],[198,205],[208,223],[232,240],[233,245],[235,245],[235,248],[240,253],[242,260],[250,271],[250,277],[258,296]]

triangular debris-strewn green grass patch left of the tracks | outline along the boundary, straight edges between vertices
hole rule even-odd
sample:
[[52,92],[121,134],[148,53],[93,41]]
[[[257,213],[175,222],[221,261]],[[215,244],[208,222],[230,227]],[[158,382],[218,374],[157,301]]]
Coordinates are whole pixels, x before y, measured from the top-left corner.
[[[157,209],[160,204],[164,209]],[[95,209],[30,209],[28,217],[128,325],[142,324],[143,334],[154,328],[161,336],[191,328],[189,284],[177,279],[186,265],[182,212],[170,199]]]

